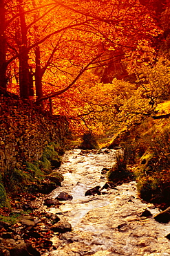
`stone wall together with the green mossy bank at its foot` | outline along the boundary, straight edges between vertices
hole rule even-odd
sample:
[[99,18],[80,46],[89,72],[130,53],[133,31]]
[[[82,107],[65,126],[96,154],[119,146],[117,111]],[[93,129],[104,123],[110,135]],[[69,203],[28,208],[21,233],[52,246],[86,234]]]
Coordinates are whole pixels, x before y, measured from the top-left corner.
[[6,193],[38,189],[59,167],[69,127],[65,116],[52,116],[28,100],[0,95],[0,105],[0,204],[4,205]]

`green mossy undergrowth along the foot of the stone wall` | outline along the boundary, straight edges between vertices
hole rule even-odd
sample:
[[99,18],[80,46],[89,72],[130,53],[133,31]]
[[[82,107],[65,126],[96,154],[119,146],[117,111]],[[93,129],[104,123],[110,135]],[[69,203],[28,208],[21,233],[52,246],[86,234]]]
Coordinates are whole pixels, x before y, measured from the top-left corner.
[[[0,207],[6,204],[7,194],[14,196],[19,192],[27,192],[32,188],[41,188],[47,174],[56,169],[61,164],[61,156],[58,152],[59,145],[50,143],[43,150],[39,161],[32,163],[25,162],[20,170],[6,170],[0,176]],[[63,176],[56,174],[56,180],[63,181]]]

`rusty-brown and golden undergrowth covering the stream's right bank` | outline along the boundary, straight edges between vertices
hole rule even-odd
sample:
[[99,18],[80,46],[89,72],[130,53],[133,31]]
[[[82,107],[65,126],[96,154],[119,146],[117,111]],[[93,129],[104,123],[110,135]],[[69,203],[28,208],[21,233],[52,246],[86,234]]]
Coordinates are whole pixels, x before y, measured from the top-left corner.
[[145,201],[170,205],[170,122],[148,118],[120,145],[127,165],[134,165],[138,194]]

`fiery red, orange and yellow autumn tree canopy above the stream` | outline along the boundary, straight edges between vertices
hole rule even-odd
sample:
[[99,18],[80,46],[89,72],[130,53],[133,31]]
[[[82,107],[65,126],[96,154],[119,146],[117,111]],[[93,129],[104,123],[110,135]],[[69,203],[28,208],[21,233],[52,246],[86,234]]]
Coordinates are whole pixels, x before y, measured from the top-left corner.
[[0,0],[0,86],[85,129],[149,114],[169,97],[169,4]]

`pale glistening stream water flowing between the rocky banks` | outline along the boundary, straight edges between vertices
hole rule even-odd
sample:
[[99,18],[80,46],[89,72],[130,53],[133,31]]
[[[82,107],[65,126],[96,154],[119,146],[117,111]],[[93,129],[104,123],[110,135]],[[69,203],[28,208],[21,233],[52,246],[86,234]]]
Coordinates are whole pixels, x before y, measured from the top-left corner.
[[67,192],[73,199],[63,201],[59,208],[50,208],[49,212],[71,223],[72,232],[56,233],[56,250],[45,256],[170,256],[170,241],[165,238],[170,226],[156,222],[153,217],[140,217],[146,209],[153,216],[159,210],[140,201],[134,181],[103,190],[101,195],[85,196],[89,188],[105,185],[107,179],[101,170],[111,167],[115,156],[113,149],[100,154],[83,154],[80,149],[65,153],[60,167],[64,176],[62,187],[50,196],[56,198],[60,192]]

